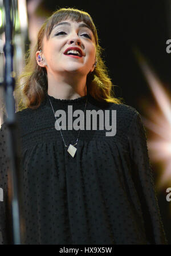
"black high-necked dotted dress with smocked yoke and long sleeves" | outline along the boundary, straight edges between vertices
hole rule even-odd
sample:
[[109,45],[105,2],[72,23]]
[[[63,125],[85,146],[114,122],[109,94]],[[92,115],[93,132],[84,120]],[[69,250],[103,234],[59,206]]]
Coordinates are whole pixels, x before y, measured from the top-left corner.
[[[60,100],[82,109],[87,96]],[[26,244],[166,244],[139,112],[125,104],[99,103],[86,110],[116,110],[116,135],[81,130],[74,158],[67,152],[48,95],[38,109],[17,112],[22,139],[23,213]],[[86,115],[85,115],[86,118]],[[73,120],[76,117],[73,117]],[[85,119],[86,120],[86,119]],[[98,119],[97,119],[98,120]],[[85,121],[86,124],[86,121]],[[6,127],[0,133],[0,188],[7,195]],[[67,145],[79,131],[62,130]],[[0,202],[1,243],[8,243],[6,202]]]

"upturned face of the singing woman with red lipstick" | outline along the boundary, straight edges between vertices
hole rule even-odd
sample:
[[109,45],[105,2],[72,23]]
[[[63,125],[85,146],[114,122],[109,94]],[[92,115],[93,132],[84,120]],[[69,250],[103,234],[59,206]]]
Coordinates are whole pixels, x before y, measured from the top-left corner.
[[[39,53],[36,52],[36,57]],[[62,21],[54,26],[48,40],[44,36],[41,55],[43,60],[38,64],[46,67],[47,74],[72,72],[87,76],[94,70],[96,59],[93,32],[84,22]]]

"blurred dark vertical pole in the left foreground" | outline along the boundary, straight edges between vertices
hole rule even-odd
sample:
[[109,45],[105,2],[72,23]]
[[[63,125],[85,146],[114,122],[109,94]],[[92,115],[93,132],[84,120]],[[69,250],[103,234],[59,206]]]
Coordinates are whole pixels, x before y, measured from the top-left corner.
[[15,99],[14,87],[15,80],[13,77],[13,52],[14,47],[12,44],[13,24],[11,21],[11,1],[4,0],[5,6],[5,105],[7,118],[5,120],[7,125],[7,143],[9,149],[9,163],[10,171],[9,176],[9,212],[11,214],[10,233],[12,234],[12,241],[15,245],[21,244],[21,223],[20,223],[20,205],[19,205],[19,166],[20,166],[20,147],[18,139],[18,123],[15,116]]

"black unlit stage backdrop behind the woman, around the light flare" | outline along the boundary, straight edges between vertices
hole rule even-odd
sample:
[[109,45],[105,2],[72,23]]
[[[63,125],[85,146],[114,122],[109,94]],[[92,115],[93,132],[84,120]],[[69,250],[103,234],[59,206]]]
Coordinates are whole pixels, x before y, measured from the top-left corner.
[[[100,46],[104,48],[105,64],[113,84],[116,85],[116,96],[123,97],[125,104],[135,107],[143,116],[146,116],[146,112],[148,112],[146,102],[156,104],[136,55],[133,53],[135,48],[148,60],[162,86],[171,92],[171,54],[166,52],[166,40],[171,39],[170,0],[44,0],[36,7],[35,13],[38,17],[48,17],[61,7],[74,7],[87,11],[91,15],[99,34]],[[149,135],[147,129],[147,136]],[[157,180],[159,177],[158,165],[152,164],[154,178]],[[171,243],[171,202],[166,201],[165,192],[168,186],[166,184],[160,191],[157,191],[157,197],[166,237]]]

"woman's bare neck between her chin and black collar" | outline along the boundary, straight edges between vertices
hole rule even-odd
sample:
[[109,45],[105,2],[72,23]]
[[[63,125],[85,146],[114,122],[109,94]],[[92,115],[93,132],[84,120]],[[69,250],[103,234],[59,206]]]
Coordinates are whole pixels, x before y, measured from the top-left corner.
[[87,95],[87,76],[76,77],[71,74],[69,77],[54,76],[48,74],[48,95],[56,99],[77,99]]

